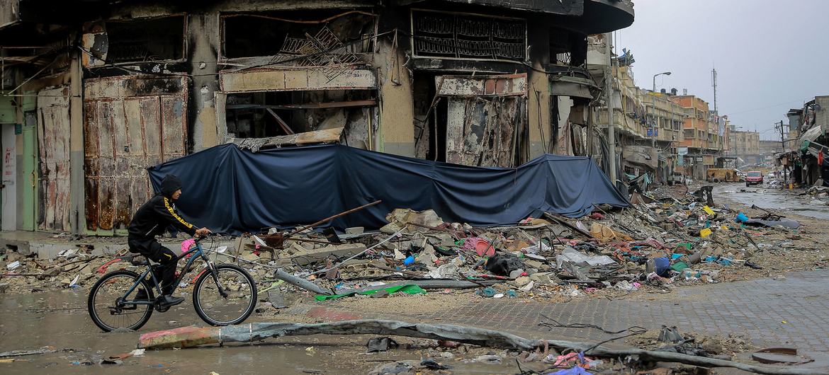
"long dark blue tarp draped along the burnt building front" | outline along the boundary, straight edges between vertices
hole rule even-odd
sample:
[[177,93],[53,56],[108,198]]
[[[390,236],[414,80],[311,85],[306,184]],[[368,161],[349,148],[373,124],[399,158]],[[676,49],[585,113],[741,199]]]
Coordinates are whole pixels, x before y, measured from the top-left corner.
[[592,204],[628,206],[593,161],[577,156],[482,168],[341,145],[252,152],[226,144],[149,168],[155,190],[167,173],[183,181],[181,214],[221,233],[311,224],[375,200],[383,203],[331,225],[380,228],[396,208],[434,209],[449,222],[488,226],[545,211],[578,217]]

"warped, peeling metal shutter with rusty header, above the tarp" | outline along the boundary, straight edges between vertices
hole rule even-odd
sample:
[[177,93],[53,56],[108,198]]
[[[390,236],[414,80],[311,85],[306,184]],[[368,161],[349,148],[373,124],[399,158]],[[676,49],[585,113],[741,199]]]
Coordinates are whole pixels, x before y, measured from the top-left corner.
[[446,161],[465,166],[516,166],[526,126],[526,75],[439,76],[448,97]]

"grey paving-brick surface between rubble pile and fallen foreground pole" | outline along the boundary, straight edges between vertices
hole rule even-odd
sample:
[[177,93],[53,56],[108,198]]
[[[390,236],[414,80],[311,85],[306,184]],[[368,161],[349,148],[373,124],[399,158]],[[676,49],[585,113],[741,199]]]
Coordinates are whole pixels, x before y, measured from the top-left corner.
[[[608,330],[633,325],[646,329],[674,326],[681,332],[737,334],[759,347],[794,347],[812,358],[829,358],[829,270],[788,273],[785,279],[761,278],[677,289],[670,296],[565,303],[521,303],[510,299],[477,299],[426,315],[400,311],[377,315],[371,311],[338,309],[336,303],[295,305],[283,312],[317,320],[394,319],[414,322],[473,325],[501,329],[526,337],[567,337],[601,341],[621,334],[598,329],[555,329],[538,324],[546,315],[561,324],[584,323]],[[406,298],[406,297],[404,297]],[[620,343],[621,344],[621,340]],[[826,360],[822,366],[829,368]]]

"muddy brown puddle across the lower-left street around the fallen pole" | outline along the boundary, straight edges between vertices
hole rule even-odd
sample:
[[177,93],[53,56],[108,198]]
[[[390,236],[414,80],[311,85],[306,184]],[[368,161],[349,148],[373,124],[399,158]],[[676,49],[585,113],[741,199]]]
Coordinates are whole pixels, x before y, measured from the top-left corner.
[[[102,358],[136,349],[139,334],[204,323],[187,300],[166,313],[154,313],[138,332],[104,334],[90,320],[85,303],[84,289],[0,295],[0,352],[44,346],[56,349],[56,353],[0,362],[0,373],[365,374],[381,363],[426,358],[425,349],[402,349],[424,340],[395,338],[401,349],[366,353],[366,342],[372,336],[315,335],[269,339],[259,344],[147,350],[143,356],[125,358],[121,364],[99,364]],[[465,357],[486,352],[476,350]],[[488,364],[463,363],[458,360],[462,357],[435,359],[448,365],[453,373],[517,373],[515,361],[509,358],[502,364]]]

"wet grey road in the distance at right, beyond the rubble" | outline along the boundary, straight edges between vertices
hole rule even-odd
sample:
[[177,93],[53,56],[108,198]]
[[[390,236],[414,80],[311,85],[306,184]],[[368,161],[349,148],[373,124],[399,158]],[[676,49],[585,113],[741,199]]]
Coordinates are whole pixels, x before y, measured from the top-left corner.
[[829,219],[829,205],[811,195],[797,195],[803,190],[782,190],[768,185],[714,184],[715,203],[719,197],[745,205],[778,211],[791,212],[815,219]]

